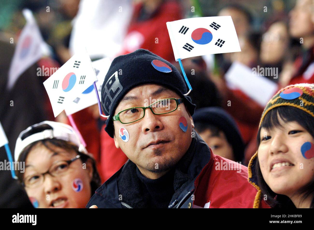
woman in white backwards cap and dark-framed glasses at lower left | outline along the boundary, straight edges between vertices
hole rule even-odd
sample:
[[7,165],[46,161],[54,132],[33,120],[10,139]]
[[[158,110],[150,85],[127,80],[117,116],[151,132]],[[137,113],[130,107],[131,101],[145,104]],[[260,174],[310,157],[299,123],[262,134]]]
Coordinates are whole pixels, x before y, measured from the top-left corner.
[[24,173],[16,174],[35,208],[84,208],[100,186],[94,158],[63,123],[44,121],[22,131],[14,158],[25,162]]

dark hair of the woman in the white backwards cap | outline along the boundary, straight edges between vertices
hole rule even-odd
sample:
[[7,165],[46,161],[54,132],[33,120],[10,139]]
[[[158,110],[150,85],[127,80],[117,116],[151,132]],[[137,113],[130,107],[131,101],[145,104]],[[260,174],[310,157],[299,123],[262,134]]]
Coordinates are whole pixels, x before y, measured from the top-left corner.
[[[21,139],[23,140],[26,137],[31,136],[34,133],[42,132],[46,129],[52,129],[52,127],[48,124],[43,124],[43,125],[34,127],[30,131],[24,133],[24,135],[21,136]],[[100,176],[97,172],[95,159],[92,157],[89,157],[89,155],[87,155],[83,152],[78,151],[78,147],[76,145],[74,145],[72,142],[60,140],[57,138],[43,139],[43,140],[33,142],[23,149],[23,151],[19,155],[18,162],[25,162],[30,151],[38,143],[41,143],[43,146],[45,146],[47,149],[49,149],[51,151],[54,151],[53,149],[51,149],[51,146],[60,147],[60,148],[67,150],[67,151],[74,151],[80,156],[80,160],[82,161],[82,163],[85,163],[88,159],[90,159],[92,161],[92,167],[93,167],[93,177],[92,177],[91,182],[90,182],[91,196],[95,193],[95,190],[98,187],[100,187],[101,180],[100,180]],[[19,181],[22,183],[23,182],[23,174],[20,171],[16,171],[16,175],[17,175]]]

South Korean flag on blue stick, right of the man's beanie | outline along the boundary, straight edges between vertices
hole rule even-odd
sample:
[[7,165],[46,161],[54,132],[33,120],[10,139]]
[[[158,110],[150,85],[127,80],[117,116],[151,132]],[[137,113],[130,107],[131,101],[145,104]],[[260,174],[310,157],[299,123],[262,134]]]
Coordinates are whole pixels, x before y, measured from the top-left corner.
[[231,16],[202,17],[167,22],[178,58],[241,51]]

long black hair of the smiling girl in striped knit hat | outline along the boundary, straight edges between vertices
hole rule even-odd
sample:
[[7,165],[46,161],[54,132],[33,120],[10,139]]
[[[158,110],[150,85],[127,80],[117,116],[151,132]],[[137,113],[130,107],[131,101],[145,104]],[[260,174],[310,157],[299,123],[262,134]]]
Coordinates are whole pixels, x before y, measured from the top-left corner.
[[[305,128],[311,136],[314,138],[314,118],[303,110],[292,106],[279,106],[270,110],[258,129],[257,133],[257,148],[261,142],[260,132],[261,128],[271,129],[273,127],[282,127],[278,118],[281,118],[284,122],[296,121]],[[257,155],[258,157],[258,155]],[[256,162],[255,172],[257,175],[258,186],[260,187],[262,194],[267,195],[267,201],[273,208],[295,208],[295,205],[286,195],[274,193],[266,184],[261,169],[259,167],[258,159]],[[304,193],[303,200],[314,193],[314,180],[308,185],[301,188],[300,192]],[[310,208],[314,208],[314,197],[311,201]]]

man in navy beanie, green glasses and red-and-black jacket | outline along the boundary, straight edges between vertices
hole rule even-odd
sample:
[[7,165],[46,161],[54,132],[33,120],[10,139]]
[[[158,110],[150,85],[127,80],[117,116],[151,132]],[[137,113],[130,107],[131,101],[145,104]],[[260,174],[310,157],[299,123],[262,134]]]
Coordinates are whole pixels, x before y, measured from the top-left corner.
[[87,207],[253,206],[257,190],[247,181],[247,168],[214,155],[195,132],[195,105],[170,62],[143,49],[116,57],[103,85],[105,130],[129,160]]

